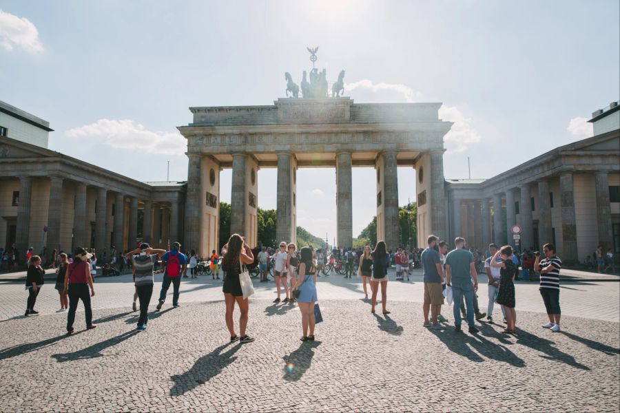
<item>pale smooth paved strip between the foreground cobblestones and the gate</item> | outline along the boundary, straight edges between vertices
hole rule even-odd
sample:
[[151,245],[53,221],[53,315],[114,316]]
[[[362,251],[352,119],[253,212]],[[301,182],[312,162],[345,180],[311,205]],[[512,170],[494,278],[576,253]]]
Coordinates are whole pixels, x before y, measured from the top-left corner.
[[[416,270],[411,275],[411,282],[393,281],[395,275],[391,270],[388,285],[389,301],[421,302],[424,293],[422,272]],[[154,296],[158,297],[162,275],[156,275]],[[478,291],[479,306],[486,311],[488,294],[486,275],[479,275]],[[260,283],[254,280],[255,299],[276,298],[274,282]],[[517,313],[521,310],[545,313],[543,301],[538,291],[537,282],[517,282]],[[95,279],[96,295],[93,308],[125,308],[130,309],[134,287],[131,275],[120,277],[101,277]],[[170,304],[169,290],[167,305]],[[318,295],[322,299],[357,300],[364,297],[360,279],[344,279],[342,275],[320,277]],[[25,311],[28,294],[24,291],[23,282],[0,282],[0,319],[21,317]],[[284,297],[282,295],[282,297]],[[155,301],[154,297],[154,301]],[[197,279],[184,278],[181,282],[180,302],[220,301],[223,299],[222,282],[212,280],[211,276],[200,276]],[[562,282],[560,304],[563,315],[599,319],[603,321],[620,321],[620,282]],[[42,314],[52,314],[59,308],[58,292],[54,290],[54,282],[46,282],[37,299],[37,310]],[[496,306],[497,307],[497,306]],[[546,318],[542,316],[541,319]]]

